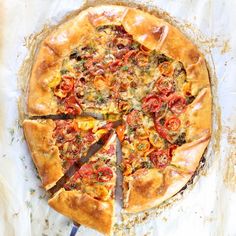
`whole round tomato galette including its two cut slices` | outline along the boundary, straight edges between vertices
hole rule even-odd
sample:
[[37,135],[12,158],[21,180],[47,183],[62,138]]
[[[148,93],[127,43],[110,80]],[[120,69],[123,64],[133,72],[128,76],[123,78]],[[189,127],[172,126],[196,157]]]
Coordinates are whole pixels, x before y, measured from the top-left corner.
[[[24,133],[43,187],[75,167],[49,205],[104,234],[114,222],[117,141],[123,207],[136,213],[188,183],[211,135],[203,55],[163,19],[125,6],[88,8],[42,41],[27,110]],[[104,145],[80,164],[97,142]]]

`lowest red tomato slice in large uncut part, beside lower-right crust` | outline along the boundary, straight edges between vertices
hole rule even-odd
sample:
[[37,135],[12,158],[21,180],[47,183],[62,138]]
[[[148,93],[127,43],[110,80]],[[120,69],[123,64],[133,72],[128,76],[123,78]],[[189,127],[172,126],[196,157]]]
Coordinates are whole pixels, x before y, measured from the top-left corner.
[[171,161],[168,150],[155,150],[149,155],[151,162],[156,168],[165,168]]

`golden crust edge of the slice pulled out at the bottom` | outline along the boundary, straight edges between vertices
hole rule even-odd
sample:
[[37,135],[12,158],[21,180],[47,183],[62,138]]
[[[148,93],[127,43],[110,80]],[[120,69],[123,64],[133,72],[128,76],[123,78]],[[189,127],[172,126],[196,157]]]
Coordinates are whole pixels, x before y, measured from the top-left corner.
[[60,190],[48,201],[56,211],[103,234],[111,233],[114,200],[99,201],[79,191]]

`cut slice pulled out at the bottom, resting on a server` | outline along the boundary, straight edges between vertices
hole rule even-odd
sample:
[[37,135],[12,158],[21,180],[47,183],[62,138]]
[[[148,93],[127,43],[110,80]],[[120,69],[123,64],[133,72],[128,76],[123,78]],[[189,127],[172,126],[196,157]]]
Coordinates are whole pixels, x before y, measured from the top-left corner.
[[71,177],[49,201],[78,224],[110,234],[116,184],[116,135]]

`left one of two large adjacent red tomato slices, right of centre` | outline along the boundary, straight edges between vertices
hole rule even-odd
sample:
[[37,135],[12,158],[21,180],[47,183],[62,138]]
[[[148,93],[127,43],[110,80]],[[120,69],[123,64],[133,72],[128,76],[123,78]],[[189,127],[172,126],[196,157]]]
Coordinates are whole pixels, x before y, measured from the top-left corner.
[[157,94],[147,95],[142,102],[142,109],[145,112],[158,112],[162,107],[162,100]]

